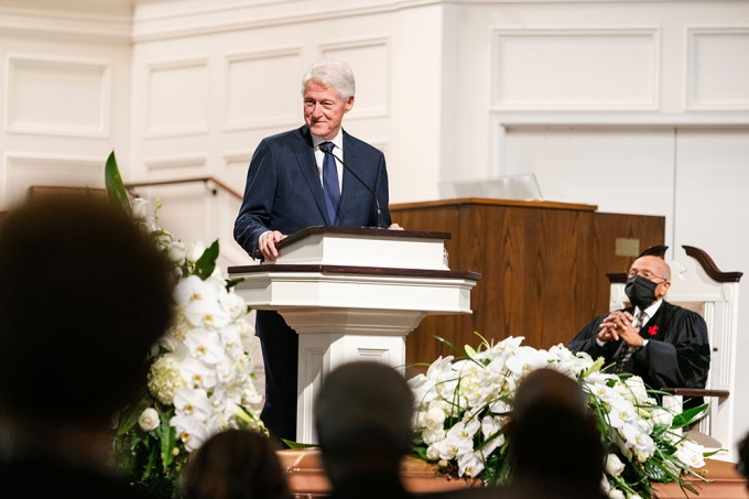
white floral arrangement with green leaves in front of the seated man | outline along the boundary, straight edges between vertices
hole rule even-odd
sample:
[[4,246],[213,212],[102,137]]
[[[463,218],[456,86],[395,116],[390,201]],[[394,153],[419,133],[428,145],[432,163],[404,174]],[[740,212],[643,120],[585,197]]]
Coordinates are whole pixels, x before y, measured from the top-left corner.
[[683,474],[701,477],[704,448],[681,436],[704,406],[674,414],[659,405],[642,379],[603,371],[603,359],[573,354],[562,345],[549,350],[522,346],[522,337],[499,343],[482,338],[465,357],[439,357],[425,375],[409,380],[416,403],[414,451],[448,474],[504,484],[511,474],[503,426],[510,421],[519,382],[540,368],[575,380],[598,419],[606,471],[601,488],[611,498],[654,497],[651,480],[693,487]]

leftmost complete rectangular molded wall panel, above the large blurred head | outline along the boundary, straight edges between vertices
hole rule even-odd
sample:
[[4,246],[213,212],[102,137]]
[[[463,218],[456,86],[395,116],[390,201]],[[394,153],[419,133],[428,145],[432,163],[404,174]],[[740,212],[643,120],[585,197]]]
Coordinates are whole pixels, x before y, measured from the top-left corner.
[[9,133],[107,138],[111,61],[8,54]]

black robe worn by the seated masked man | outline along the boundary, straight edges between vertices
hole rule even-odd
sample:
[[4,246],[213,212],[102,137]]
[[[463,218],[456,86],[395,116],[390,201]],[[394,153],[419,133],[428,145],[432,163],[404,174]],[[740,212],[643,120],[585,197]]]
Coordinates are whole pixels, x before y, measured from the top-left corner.
[[[625,311],[632,314],[634,307]],[[604,357],[607,365],[616,362],[622,340],[609,341],[603,347],[596,343],[600,323],[608,315],[600,315],[585,326],[567,348],[585,351],[594,359]],[[655,315],[640,328],[640,336],[650,341],[647,347],[634,350],[623,366],[625,372],[641,377],[647,386],[655,390],[705,388],[710,367],[710,347],[707,324],[699,314],[664,301]]]

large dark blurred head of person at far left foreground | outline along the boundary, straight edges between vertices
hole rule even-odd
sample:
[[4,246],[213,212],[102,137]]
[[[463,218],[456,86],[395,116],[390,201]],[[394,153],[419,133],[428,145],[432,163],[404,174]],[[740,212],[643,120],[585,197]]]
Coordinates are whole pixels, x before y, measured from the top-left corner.
[[35,197],[0,221],[0,497],[150,497],[107,463],[172,290],[165,257],[104,198]]

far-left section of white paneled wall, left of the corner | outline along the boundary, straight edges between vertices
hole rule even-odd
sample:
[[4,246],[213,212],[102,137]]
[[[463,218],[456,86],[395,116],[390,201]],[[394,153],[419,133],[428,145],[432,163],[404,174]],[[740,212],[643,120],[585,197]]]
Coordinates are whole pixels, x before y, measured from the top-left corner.
[[130,17],[122,2],[0,2],[0,209],[31,185],[104,185],[130,159]]

